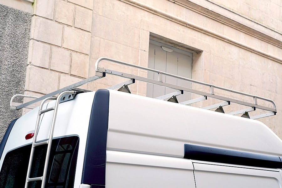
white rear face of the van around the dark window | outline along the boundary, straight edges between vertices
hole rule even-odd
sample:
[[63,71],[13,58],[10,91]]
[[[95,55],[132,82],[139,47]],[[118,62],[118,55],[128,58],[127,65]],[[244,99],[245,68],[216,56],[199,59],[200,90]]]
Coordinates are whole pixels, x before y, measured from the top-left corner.
[[[81,184],[81,173],[84,160],[84,151],[86,145],[88,124],[95,92],[81,93],[76,96],[75,100],[70,100],[59,104],[57,119],[54,129],[54,138],[77,135],[79,136],[79,150],[76,165],[76,177],[74,187]],[[55,101],[49,102],[48,107],[55,105]],[[44,106],[47,108],[47,105]],[[43,108],[43,109],[44,109]],[[32,139],[25,140],[25,135],[34,133],[38,108],[31,110],[24,116],[20,117],[13,126],[13,129],[7,140],[7,144],[0,160],[2,166],[5,155],[15,148],[31,144]],[[50,124],[52,122],[52,111],[43,115],[37,140],[49,138]]]

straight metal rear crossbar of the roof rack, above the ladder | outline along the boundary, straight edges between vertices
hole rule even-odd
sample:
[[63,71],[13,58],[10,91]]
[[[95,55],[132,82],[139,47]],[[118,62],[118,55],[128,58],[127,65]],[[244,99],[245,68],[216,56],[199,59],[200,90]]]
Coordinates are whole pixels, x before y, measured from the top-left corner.
[[45,98],[47,98],[47,97],[55,96],[55,95],[57,95],[57,94],[59,94],[59,93],[61,93],[61,92],[63,92],[63,91],[69,91],[69,90],[74,89],[74,88],[76,88],[76,87],[79,87],[79,86],[82,86],[82,85],[84,85],[84,84],[87,84],[87,83],[89,83],[89,82],[91,82],[91,81],[98,80],[98,79],[100,79],[100,78],[102,78],[102,77],[105,77],[105,74],[104,74],[104,73],[96,73],[96,76],[92,76],[92,77],[90,77],[90,78],[86,78],[85,80],[76,82],[76,83],[74,83],[74,84],[71,84],[70,86],[63,87],[63,88],[61,88],[61,89],[59,89],[59,90],[57,90],[57,91],[53,91],[53,92],[51,92],[51,93],[49,93],[49,94],[46,94],[46,95],[44,95],[44,96],[42,96],[42,97],[39,97],[39,98],[34,99],[34,100],[32,100],[32,101],[26,102],[26,103],[24,103],[24,104],[21,104],[21,105],[19,105],[19,106],[16,107],[16,110],[19,110],[19,109],[21,109],[21,108],[24,108],[24,107],[26,107],[26,106],[29,106],[29,105],[31,105],[31,104],[34,104],[35,102],[41,101],[41,100],[43,100],[43,99],[45,99]]

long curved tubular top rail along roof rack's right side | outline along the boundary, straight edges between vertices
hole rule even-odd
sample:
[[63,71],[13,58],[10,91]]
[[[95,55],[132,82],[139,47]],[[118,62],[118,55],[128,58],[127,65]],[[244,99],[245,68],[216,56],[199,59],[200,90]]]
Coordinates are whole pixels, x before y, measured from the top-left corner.
[[[147,68],[147,67],[143,67],[143,66],[139,66],[139,65],[134,65],[134,64],[130,64],[130,63],[127,63],[127,62],[114,60],[114,59],[107,58],[107,57],[100,57],[96,61],[96,63],[95,63],[96,73],[105,72],[104,68],[99,67],[99,63],[102,60],[107,60],[107,61],[110,61],[110,62],[113,62],[113,63],[118,63],[118,64],[121,64],[121,65],[127,65],[127,66],[131,66],[131,67],[135,67],[135,68],[138,68],[138,69],[143,69],[143,70],[147,70],[147,71],[151,71],[151,72],[155,72],[155,73],[161,73],[161,74],[166,75],[166,76],[172,76],[172,77],[175,77],[175,78],[178,78],[178,79],[181,79],[181,80],[190,81],[190,82],[196,83],[196,84],[201,84],[203,86],[209,86],[209,87],[217,88],[217,89],[220,89],[220,90],[223,90],[223,91],[229,91],[229,92],[237,93],[237,94],[240,94],[240,95],[261,99],[261,100],[270,102],[273,105],[273,108],[275,109],[273,112],[277,112],[275,103],[272,100],[264,98],[264,97],[259,97],[259,96],[256,96],[256,95],[251,95],[251,94],[248,94],[248,93],[244,93],[244,92],[241,92],[241,91],[236,91],[236,90],[232,90],[232,89],[228,89],[228,88],[224,88],[224,87],[220,87],[220,86],[215,86],[215,85],[208,84],[208,83],[205,83],[205,82],[192,80],[192,79],[189,79],[189,78],[185,78],[185,77],[178,76],[178,75],[173,75],[173,74],[170,74],[170,73],[167,73],[167,72],[163,72],[163,71],[160,71],[160,70],[155,70],[155,69],[151,69],[151,68]],[[111,74],[110,72],[107,72],[107,73]],[[125,74],[125,73],[122,73],[122,75],[123,74]],[[114,74],[114,75],[118,75],[118,74]],[[122,75],[118,75],[118,76],[122,76]],[[228,100],[226,100],[226,101],[228,101]],[[254,104],[255,104],[255,102],[254,102]]]

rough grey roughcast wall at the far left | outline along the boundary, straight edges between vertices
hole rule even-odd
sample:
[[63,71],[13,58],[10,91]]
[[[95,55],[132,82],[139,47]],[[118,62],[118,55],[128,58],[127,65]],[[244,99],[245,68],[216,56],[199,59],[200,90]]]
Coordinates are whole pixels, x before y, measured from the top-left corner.
[[31,13],[0,4],[0,140],[22,111],[10,110],[14,94],[24,93]]

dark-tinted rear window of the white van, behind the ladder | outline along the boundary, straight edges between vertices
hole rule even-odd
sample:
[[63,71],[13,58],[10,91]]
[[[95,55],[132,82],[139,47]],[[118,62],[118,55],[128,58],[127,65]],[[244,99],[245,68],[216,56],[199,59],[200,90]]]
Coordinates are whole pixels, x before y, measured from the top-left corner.
[[[52,141],[45,188],[73,188],[78,154],[77,136]],[[8,152],[0,172],[0,188],[24,188],[31,144]],[[43,175],[47,145],[37,146],[30,177]],[[29,182],[29,188],[41,187],[41,181]]]

